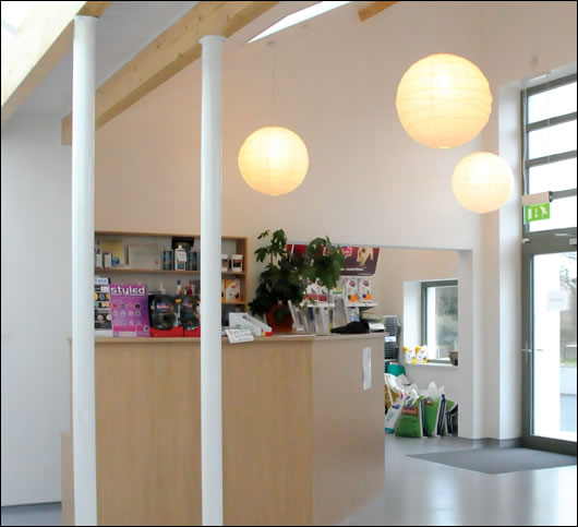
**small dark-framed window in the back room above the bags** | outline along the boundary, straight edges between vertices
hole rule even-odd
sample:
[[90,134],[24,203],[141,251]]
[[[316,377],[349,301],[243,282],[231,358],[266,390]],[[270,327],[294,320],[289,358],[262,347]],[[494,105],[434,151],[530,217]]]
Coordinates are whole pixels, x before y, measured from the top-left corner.
[[458,282],[422,282],[422,342],[428,360],[449,361],[458,349]]

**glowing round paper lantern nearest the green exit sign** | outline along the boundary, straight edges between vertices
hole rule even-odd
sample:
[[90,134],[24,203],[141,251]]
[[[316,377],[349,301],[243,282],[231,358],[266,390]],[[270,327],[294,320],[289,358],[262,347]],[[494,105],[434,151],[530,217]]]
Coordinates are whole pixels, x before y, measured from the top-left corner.
[[451,189],[459,204],[474,213],[497,211],[511,194],[514,175],[508,164],[490,152],[474,152],[454,169]]

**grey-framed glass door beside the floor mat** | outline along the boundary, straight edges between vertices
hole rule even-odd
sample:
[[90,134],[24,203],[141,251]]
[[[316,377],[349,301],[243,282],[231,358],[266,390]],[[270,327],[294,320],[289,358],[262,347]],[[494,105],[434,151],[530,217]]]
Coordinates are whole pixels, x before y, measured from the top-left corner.
[[523,435],[576,453],[576,232],[523,244]]

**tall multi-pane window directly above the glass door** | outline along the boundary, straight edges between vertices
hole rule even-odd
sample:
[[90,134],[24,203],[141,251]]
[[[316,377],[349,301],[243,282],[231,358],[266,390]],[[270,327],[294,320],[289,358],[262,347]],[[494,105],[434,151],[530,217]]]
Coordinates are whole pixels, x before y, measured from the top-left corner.
[[523,193],[553,197],[550,219],[526,232],[576,227],[576,74],[527,88],[521,101]]

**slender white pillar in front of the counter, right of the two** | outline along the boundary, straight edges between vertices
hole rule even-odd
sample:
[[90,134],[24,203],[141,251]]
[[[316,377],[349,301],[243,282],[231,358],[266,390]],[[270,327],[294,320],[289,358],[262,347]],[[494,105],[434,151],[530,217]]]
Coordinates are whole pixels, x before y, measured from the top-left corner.
[[220,342],[221,57],[225,38],[203,45],[201,111],[201,474],[203,525],[222,525]]

